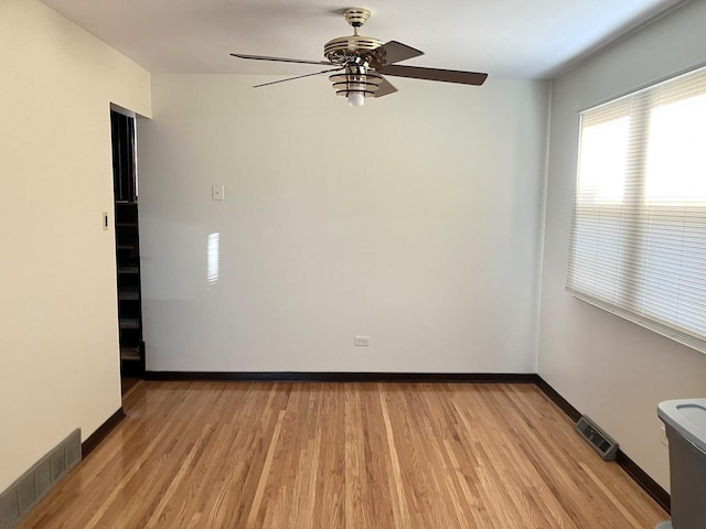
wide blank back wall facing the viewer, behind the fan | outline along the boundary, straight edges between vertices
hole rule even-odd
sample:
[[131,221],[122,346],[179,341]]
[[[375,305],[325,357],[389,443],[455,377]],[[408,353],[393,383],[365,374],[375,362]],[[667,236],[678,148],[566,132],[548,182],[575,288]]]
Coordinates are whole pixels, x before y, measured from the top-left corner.
[[534,373],[548,84],[270,79],[152,76],[148,369]]

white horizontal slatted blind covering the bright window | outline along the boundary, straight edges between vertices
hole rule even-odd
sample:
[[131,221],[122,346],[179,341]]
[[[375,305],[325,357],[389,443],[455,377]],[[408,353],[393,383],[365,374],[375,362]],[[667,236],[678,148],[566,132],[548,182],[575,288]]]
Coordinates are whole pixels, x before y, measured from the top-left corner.
[[706,68],[580,118],[567,290],[706,353]]

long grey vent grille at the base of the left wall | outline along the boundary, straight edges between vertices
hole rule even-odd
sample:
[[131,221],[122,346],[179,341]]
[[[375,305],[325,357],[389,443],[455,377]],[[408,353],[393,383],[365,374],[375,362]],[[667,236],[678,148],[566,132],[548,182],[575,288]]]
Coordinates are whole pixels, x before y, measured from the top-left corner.
[[0,494],[0,529],[11,529],[64,475],[81,462],[81,430],[74,430]]

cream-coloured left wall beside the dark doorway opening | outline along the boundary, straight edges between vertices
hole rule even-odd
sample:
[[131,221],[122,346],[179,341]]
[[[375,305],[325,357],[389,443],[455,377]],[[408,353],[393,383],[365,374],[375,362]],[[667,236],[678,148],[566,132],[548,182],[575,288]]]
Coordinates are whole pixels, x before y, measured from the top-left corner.
[[0,79],[3,490],[120,407],[109,105],[149,115],[150,78],[44,4],[2,0]]

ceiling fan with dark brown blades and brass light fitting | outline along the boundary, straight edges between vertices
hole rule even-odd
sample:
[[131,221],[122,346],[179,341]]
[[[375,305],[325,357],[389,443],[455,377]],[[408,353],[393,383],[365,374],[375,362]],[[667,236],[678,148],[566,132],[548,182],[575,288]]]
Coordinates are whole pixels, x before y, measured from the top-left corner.
[[313,74],[304,74],[256,85],[255,88],[313,75],[332,74],[329,76],[329,80],[333,84],[335,94],[347,97],[349,105],[354,107],[363,105],[366,97],[383,97],[397,91],[397,88],[383,77],[383,74],[397,77],[410,77],[413,79],[440,80],[442,83],[460,83],[477,86],[482,85],[488,77],[488,74],[477,72],[398,65],[396,63],[424,55],[424,53],[397,41],[383,43],[377,39],[361,35],[360,29],[371,17],[368,9],[350,8],[344,11],[343,17],[353,28],[353,35],[340,36],[327,42],[323,46],[323,55],[328,61],[267,57],[263,55],[245,55],[242,53],[232,53],[231,55],[254,61],[332,66],[330,69],[314,72]]

